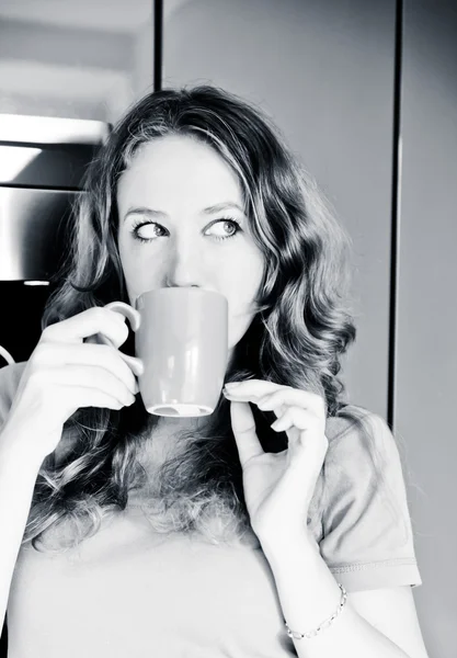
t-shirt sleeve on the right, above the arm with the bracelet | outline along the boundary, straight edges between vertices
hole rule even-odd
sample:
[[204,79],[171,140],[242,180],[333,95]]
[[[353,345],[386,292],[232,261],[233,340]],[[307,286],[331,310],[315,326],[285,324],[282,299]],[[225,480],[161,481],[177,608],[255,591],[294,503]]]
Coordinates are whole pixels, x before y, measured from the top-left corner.
[[[362,408],[357,408],[362,409]],[[387,422],[358,413],[329,438],[320,554],[347,591],[422,585],[400,454]]]

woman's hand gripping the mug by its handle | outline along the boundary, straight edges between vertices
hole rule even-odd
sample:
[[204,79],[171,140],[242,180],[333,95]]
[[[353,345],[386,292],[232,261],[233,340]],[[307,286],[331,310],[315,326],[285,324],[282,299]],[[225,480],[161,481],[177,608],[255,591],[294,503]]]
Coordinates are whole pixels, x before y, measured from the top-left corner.
[[[103,333],[115,347],[83,342]],[[60,441],[66,420],[80,407],[121,409],[135,402],[142,372],[134,374],[117,350],[128,337],[125,317],[94,307],[44,329],[32,352],[2,429],[15,447],[39,462]]]

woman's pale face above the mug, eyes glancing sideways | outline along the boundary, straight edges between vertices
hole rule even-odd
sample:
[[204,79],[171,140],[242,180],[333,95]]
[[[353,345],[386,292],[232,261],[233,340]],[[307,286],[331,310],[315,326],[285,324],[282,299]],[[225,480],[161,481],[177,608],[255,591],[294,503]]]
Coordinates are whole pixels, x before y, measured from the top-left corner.
[[142,145],[117,186],[118,247],[130,304],[167,286],[221,293],[231,354],[253,318],[264,266],[242,208],[238,178],[212,147],[184,136]]

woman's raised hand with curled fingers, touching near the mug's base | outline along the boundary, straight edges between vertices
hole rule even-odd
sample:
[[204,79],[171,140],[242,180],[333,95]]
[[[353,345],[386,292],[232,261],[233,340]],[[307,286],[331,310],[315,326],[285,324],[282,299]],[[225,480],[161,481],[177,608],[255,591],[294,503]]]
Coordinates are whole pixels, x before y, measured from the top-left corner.
[[[307,514],[329,445],[325,404],[321,396],[266,382],[247,379],[224,389],[231,400],[231,427],[243,470],[251,526],[261,543],[278,544],[307,531]],[[249,402],[273,410],[276,431],[288,447],[265,453],[255,432]]]

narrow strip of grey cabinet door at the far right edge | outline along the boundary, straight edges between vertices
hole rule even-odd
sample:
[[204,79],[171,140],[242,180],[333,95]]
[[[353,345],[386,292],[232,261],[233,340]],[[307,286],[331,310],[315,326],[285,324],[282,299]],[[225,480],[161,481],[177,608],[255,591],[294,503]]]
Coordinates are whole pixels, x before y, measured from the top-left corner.
[[405,0],[396,431],[408,445],[430,656],[456,654],[457,11]]

